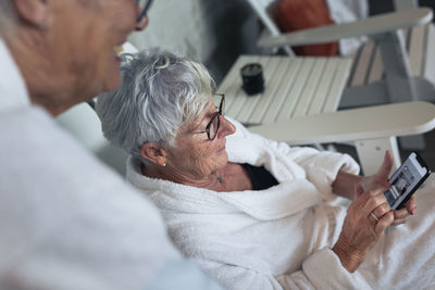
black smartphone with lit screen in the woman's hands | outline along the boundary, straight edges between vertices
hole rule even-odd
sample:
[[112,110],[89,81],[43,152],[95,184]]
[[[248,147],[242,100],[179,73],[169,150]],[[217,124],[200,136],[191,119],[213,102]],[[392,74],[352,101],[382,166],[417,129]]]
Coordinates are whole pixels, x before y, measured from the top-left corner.
[[431,171],[424,161],[419,154],[412,152],[388,180],[391,186],[384,196],[389,207],[391,210],[403,207],[430,174]]

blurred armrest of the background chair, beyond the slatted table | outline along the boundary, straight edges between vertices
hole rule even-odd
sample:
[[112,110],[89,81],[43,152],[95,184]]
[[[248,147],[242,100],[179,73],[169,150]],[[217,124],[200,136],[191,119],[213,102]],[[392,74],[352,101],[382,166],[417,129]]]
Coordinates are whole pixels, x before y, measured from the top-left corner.
[[274,48],[324,43],[348,37],[378,35],[399,28],[409,28],[430,23],[432,17],[432,10],[427,8],[401,10],[350,23],[326,25],[279,36],[268,36],[260,38],[258,45],[259,47]]

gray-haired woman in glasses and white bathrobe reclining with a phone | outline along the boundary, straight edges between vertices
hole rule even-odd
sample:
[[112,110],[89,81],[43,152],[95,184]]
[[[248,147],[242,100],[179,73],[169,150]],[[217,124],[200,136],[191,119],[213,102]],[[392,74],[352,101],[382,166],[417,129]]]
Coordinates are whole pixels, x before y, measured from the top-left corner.
[[98,100],[103,133],[130,153],[127,179],[162,210],[173,241],[226,288],[435,282],[434,187],[403,224],[415,200],[396,212],[386,203],[390,154],[359,177],[348,155],[291,148],[224,117],[201,64],[158,51],[126,59],[120,89]]

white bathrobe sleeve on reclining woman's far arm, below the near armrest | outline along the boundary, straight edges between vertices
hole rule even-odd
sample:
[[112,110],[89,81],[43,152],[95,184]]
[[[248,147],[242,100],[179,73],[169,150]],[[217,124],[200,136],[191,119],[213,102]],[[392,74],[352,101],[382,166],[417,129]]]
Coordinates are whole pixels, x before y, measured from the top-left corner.
[[323,194],[332,194],[332,184],[339,169],[350,174],[359,173],[359,165],[348,154],[323,151],[309,147],[290,147],[285,142],[277,142],[260,135],[250,133],[239,122],[231,119],[236,126],[235,138],[246,139],[258,146],[274,150],[277,154],[297,163],[306,172],[310,180]]

